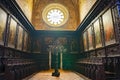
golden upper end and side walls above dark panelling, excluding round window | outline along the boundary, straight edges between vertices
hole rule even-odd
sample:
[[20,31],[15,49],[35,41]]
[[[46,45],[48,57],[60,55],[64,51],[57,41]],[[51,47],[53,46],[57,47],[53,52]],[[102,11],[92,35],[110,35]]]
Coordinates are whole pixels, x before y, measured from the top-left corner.
[[[16,2],[35,30],[75,31],[96,0],[16,0]],[[57,28],[47,25],[42,18],[44,8],[51,3],[62,4],[69,12],[68,21]]]

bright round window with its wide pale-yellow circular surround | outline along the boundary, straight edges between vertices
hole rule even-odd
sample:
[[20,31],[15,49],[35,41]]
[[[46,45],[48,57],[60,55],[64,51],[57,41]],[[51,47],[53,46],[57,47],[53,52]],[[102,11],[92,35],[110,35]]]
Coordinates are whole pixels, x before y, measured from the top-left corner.
[[60,27],[67,22],[69,13],[63,5],[53,3],[45,7],[42,12],[42,17],[49,26]]

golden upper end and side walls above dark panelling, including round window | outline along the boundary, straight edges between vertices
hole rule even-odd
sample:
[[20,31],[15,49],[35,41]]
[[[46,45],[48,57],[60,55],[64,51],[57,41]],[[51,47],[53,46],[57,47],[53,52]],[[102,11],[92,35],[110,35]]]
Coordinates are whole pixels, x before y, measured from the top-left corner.
[[35,30],[75,31],[96,0],[16,0]]

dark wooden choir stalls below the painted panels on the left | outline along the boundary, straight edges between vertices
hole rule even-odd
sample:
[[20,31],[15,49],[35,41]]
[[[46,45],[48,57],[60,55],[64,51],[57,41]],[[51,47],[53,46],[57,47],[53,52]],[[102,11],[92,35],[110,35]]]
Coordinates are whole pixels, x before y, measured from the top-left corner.
[[39,58],[36,54],[0,46],[0,80],[21,80],[41,70]]

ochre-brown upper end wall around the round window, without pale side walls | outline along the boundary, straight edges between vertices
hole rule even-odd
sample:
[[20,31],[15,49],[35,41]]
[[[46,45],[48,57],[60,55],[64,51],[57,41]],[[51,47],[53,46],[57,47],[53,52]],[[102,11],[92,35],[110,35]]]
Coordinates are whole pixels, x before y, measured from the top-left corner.
[[[33,4],[32,24],[36,30],[76,30],[79,24],[78,0],[35,0]],[[52,28],[42,19],[42,11],[51,3],[64,5],[69,11],[69,19],[65,25]],[[77,10],[76,10],[77,9]]]

